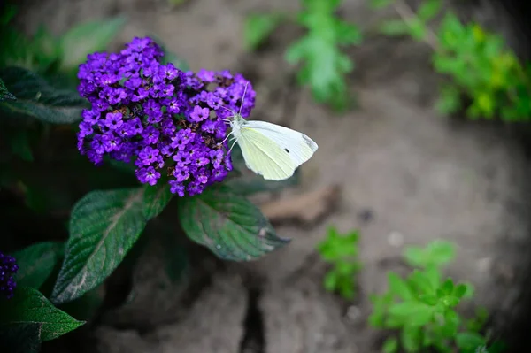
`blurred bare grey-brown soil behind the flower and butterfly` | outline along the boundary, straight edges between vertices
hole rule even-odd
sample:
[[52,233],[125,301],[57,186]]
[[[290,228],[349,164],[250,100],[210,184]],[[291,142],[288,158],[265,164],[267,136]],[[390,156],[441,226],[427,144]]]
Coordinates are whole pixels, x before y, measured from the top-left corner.
[[[341,186],[338,204],[325,219],[304,227],[277,225],[279,234],[292,238],[283,249],[246,264],[220,265],[209,258],[209,270],[203,272],[209,280],[185,311],[179,303],[189,287],[157,285],[159,267],[146,265],[147,274],[137,276],[143,279],[137,298],[96,327],[97,351],[377,352],[381,334],[366,325],[368,295],[386,288],[387,272],[404,272],[404,246],[435,239],[458,244],[448,274],[476,286],[473,304],[465,310],[485,305],[496,332],[512,322],[527,265],[527,159],[499,124],[435,112],[439,78],[429,65],[427,46],[367,35],[350,51],[357,64],[349,80],[358,107],[337,115],[294,85],[294,68],[282,58],[300,29],[281,27],[258,53],[243,49],[245,15],[295,12],[296,0],[189,0],[176,7],[167,0],[25,4],[20,19],[28,31],[42,19],[61,33],[81,20],[125,14],[127,26],[114,49],[135,35],[156,34],[193,70],[246,74],[257,89],[253,119],[296,128],[319,144],[301,168],[301,185],[282,197]],[[392,10],[374,12],[362,0],[344,0],[341,11],[366,30],[385,13]],[[466,13],[489,19],[481,9]],[[321,285],[326,265],[315,246],[330,225],[361,234],[364,268],[353,303]]]

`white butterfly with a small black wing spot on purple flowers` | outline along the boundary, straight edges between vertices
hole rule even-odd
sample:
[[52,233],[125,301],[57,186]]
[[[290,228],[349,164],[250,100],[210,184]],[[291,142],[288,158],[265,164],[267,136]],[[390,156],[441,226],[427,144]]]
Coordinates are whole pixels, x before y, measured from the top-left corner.
[[240,112],[231,112],[232,120],[227,122],[232,131],[227,138],[232,136],[238,143],[245,165],[266,180],[288,179],[318,149],[317,143],[298,131],[266,121],[243,119],[242,106]]

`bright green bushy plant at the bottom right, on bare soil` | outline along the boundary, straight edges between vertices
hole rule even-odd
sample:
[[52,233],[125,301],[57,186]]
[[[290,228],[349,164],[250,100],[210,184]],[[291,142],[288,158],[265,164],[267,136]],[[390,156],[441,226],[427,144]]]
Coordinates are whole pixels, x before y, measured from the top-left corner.
[[[473,286],[443,280],[441,267],[455,257],[449,242],[433,242],[426,249],[405,249],[404,259],[416,268],[405,279],[388,273],[388,291],[372,295],[373,313],[369,324],[376,328],[396,330],[384,342],[382,351],[394,353],[436,349],[439,352],[475,353],[486,346],[480,330],[487,312],[477,311],[475,318],[459,315],[458,304],[473,297]],[[481,351],[481,350],[480,350]]]

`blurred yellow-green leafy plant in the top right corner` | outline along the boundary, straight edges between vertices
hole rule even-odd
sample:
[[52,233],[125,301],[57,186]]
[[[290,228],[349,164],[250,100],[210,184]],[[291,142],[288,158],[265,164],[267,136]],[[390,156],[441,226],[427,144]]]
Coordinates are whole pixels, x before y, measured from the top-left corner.
[[[402,0],[372,0],[373,7],[394,4],[400,19],[381,24],[385,35],[410,35],[427,42],[433,65],[449,79],[435,105],[443,114],[466,109],[469,119],[527,121],[531,117],[529,65],[522,65],[501,35],[484,30],[478,23],[461,23],[445,12],[434,32],[429,22],[441,14],[442,0],[425,0],[414,12]],[[464,105],[466,97],[470,104]]]

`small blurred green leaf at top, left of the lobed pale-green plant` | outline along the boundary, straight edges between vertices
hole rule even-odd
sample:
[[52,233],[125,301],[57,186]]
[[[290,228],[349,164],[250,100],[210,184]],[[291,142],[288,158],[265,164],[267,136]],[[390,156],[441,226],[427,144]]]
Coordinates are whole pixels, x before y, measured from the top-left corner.
[[243,42],[248,50],[257,50],[266,42],[284,16],[281,13],[252,13],[245,19]]

